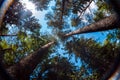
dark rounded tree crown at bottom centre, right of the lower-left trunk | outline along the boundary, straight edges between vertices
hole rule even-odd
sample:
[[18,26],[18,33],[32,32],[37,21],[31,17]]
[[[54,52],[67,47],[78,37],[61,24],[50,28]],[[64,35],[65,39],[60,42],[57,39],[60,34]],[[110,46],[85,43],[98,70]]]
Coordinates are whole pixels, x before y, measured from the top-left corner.
[[[66,58],[53,57],[41,64],[41,70],[38,75],[40,80],[72,80],[74,75],[73,65]],[[44,74],[44,76],[42,76]]]

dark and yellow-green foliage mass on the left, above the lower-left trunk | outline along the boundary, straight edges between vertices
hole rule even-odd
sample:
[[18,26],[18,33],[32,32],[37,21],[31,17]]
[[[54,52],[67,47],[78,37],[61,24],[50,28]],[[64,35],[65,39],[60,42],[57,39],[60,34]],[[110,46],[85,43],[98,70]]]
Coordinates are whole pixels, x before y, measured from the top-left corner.
[[[40,35],[41,25],[38,19],[32,16],[32,12],[25,9],[19,1],[14,1],[10,6],[2,25],[5,26],[2,27],[2,32],[5,30],[9,33],[11,30],[16,30],[17,33],[15,37],[1,37],[0,50],[5,50],[3,57],[5,67],[17,63],[21,58],[50,41],[46,35]],[[12,26],[16,29],[9,28]]]

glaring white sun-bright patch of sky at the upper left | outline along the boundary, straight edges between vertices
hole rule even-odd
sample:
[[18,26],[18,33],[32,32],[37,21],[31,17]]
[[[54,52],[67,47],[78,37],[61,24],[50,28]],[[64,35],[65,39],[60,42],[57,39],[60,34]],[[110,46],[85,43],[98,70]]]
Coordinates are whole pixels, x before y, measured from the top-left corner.
[[35,5],[31,1],[21,0],[21,2],[24,4],[26,9],[28,9],[31,12],[35,13]]

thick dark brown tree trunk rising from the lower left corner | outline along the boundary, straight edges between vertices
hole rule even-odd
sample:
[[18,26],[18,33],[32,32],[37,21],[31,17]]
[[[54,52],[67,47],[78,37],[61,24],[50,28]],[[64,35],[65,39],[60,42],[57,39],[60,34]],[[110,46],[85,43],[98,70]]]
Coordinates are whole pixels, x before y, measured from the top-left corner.
[[8,73],[16,80],[29,80],[30,74],[42,58],[48,54],[48,49],[52,44],[54,44],[54,42],[50,42],[42,46],[42,48],[38,49],[34,53],[21,59],[19,63],[7,69]]

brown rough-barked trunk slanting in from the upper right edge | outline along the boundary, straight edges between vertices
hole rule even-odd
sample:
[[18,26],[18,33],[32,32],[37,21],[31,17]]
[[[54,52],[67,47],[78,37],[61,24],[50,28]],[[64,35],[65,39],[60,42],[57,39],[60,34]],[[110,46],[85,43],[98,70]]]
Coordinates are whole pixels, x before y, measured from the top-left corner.
[[85,26],[83,28],[70,32],[68,34],[65,34],[64,36],[68,37],[75,34],[105,31],[105,30],[110,30],[110,29],[119,28],[119,27],[120,27],[119,17],[116,14],[112,14],[109,17],[106,17],[98,22],[94,22],[88,26]]

